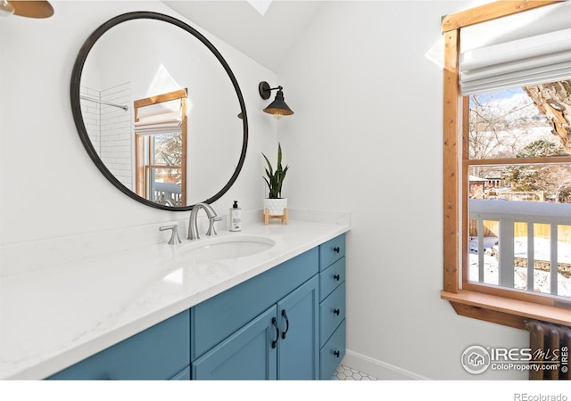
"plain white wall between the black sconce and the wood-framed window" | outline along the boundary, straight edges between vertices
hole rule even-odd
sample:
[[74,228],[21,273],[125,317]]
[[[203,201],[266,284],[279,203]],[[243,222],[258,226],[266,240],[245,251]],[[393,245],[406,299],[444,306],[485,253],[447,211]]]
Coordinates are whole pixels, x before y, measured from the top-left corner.
[[443,288],[443,73],[425,53],[465,2],[327,2],[277,71],[293,208],[351,211],[345,362],[385,379],[525,379],[464,372],[468,346],[526,331],[458,316]]

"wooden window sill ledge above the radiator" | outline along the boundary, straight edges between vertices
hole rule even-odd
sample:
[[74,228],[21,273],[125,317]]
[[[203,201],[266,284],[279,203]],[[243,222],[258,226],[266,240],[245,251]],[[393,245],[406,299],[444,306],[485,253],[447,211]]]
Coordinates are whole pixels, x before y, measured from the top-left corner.
[[571,309],[552,307],[519,299],[508,299],[474,291],[442,291],[440,298],[450,301],[458,315],[525,330],[529,319],[571,325]]

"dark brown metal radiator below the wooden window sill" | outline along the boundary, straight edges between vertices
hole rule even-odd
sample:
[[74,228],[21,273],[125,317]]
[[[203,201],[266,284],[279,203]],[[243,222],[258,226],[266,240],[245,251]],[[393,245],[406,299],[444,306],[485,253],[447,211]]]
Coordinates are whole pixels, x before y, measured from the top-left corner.
[[[530,380],[569,380],[569,349],[571,328],[558,324],[531,320],[529,330],[533,361],[530,363]],[[533,369],[532,369],[533,367]]]

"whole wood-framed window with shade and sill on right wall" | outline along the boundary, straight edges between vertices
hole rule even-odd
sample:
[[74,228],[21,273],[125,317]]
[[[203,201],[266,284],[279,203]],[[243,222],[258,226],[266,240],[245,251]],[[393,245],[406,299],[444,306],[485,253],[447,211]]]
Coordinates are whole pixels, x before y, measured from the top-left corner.
[[[546,65],[555,65],[550,54],[490,66],[486,54],[499,60],[494,46],[462,53],[461,62],[475,66],[467,69],[459,64],[460,29],[558,3],[496,2],[443,19],[442,298],[459,315],[517,328],[532,317],[571,324],[570,130],[568,125],[565,132],[558,130],[553,110],[545,110],[550,104],[538,102],[541,96],[534,92],[558,85],[571,92],[571,73],[559,69],[546,75],[553,79],[540,74],[538,81],[536,61],[546,58]],[[496,47],[501,57],[508,53]],[[547,46],[541,42],[538,48]],[[514,64],[519,70],[505,74]],[[524,65],[527,70],[520,68]]]

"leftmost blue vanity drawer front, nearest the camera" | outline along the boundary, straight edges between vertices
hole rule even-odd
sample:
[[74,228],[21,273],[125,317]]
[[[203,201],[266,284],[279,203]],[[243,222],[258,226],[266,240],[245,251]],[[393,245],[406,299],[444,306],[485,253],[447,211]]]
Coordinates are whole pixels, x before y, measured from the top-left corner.
[[186,310],[104,349],[50,380],[167,380],[190,364]]

